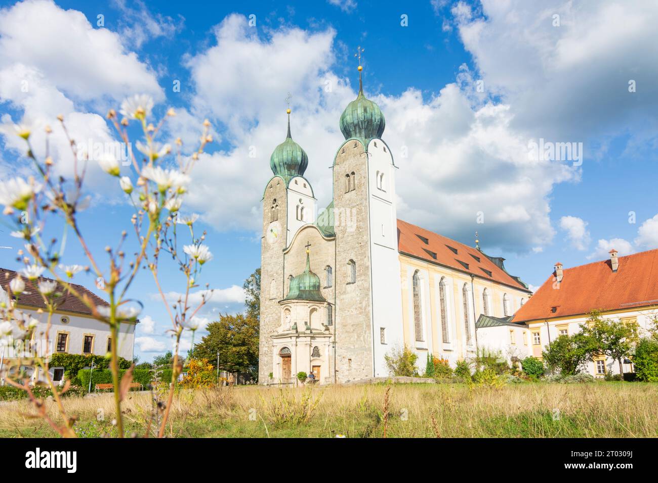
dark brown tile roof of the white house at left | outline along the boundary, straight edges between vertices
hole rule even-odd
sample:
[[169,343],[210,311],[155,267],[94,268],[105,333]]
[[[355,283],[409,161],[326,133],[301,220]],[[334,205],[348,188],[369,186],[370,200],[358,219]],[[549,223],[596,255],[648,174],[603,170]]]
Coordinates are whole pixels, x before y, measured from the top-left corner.
[[[0,268],[0,285],[2,285],[2,288],[5,290],[5,292],[7,292],[7,294],[11,294],[11,290],[9,289],[9,282],[12,281],[15,277],[16,277],[15,271],[6,268]],[[25,291],[22,294],[20,294],[20,297],[18,298],[18,305],[30,307],[30,308],[41,308],[43,310],[46,310],[46,306],[43,303],[43,298],[39,293],[38,283],[39,281],[52,280],[52,279],[39,277],[39,279],[34,281],[34,283],[26,279],[26,277],[22,277],[22,279],[25,282]],[[91,290],[88,290],[88,288],[82,287],[82,285],[78,285],[76,283],[72,283],[70,285],[72,285],[72,287],[75,288],[78,294],[88,297],[89,300],[91,300],[91,303],[93,303],[95,306],[109,307],[109,304],[105,302],[105,300],[97,296],[95,293],[91,292]],[[64,286],[61,283],[57,284],[57,288],[55,289],[55,292],[64,293],[64,296],[59,298],[57,311],[92,315],[91,310],[89,310],[89,308],[84,304],[84,302],[79,300],[71,292],[68,292],[68,290],[65,290]]]

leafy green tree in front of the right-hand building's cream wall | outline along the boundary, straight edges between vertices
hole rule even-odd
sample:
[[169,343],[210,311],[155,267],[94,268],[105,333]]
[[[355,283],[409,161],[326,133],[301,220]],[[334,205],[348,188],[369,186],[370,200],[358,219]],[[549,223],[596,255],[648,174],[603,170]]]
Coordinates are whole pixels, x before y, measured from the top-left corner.
[[605,355],[619,362],[619,373],[624,374],[623,360],[630,356],[638,341],[638,325],[619,319],[603,319],[592,311],[586,323],[580,325],[590,346],[590,359]]

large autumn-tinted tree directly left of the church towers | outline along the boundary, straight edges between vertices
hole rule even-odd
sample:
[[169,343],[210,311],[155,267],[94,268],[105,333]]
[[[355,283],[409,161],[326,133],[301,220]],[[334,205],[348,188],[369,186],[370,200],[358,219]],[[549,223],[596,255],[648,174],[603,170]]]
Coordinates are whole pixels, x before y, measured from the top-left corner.
[[256,373],[258,367],[259,321],[238,315],[220,315],[206,327],[208,334],[194,347],[195,359],[208,359],[217,368],[229,372]]

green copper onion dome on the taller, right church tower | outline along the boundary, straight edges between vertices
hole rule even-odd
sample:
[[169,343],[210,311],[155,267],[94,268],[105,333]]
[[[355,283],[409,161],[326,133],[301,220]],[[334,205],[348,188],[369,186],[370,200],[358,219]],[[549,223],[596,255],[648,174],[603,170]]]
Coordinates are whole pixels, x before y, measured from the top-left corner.
[[359,139],[365,147],[373,137],[382,137],[386,127],[384,114],[379,106],[363,95],[361,70],[359,70],[359,95],[347,104],[340,116],[340,130],[345,139]]

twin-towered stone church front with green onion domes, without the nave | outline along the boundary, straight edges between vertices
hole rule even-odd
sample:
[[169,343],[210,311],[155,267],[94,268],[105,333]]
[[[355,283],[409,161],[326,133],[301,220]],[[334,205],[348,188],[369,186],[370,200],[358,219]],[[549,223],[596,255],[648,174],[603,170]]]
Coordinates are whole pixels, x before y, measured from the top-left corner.
[[[290,135],[290,109],[286,140],[270,158],[261,383],[285,384],[299,371],[321,383],[387,376],[384,354],[403,343],[395,165],[382,140],[384,114],[365,97],[361,70],[357,99],[340,118],[345,142],[333,163],[334,199],[318,218],[303,177],[308,156]],[[299,290],[300,281],[313,287]]]

